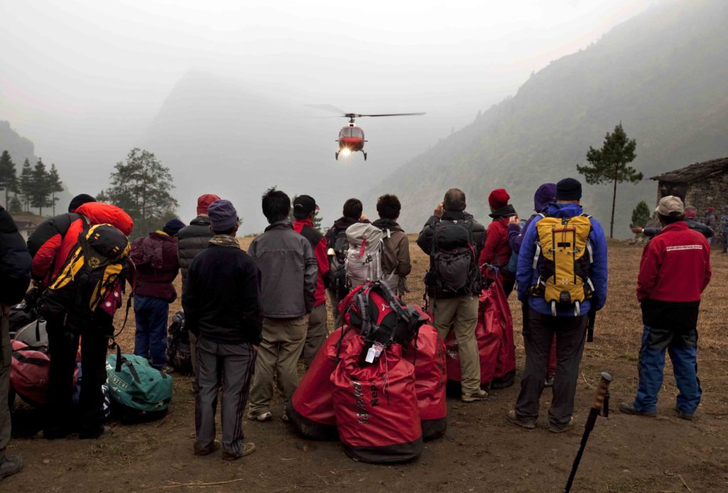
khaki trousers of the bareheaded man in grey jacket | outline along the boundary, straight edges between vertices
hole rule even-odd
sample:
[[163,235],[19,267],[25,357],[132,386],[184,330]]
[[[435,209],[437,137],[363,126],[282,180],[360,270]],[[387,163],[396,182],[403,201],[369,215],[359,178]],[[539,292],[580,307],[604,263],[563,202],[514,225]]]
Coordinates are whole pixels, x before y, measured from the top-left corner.
[[250,413],[270,411],[274,377],[288,405],[288,399],[298,387],[298,358],[304,350],[308,326],[308,315],[263,319],[263,341],[258,347],[256,371],[250,387]]

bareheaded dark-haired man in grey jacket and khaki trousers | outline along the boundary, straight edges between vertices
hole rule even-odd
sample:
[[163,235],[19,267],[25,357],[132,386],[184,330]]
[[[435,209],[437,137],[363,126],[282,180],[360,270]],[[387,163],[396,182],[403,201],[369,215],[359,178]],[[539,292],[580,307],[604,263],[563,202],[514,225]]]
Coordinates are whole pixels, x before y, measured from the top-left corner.
[[[273,417],[274,375],[286,405],[298,386],[296,365],[314,307],[318,267],[311,242],[296,233],[288,221],[288,195],[274,187],[264,194],[262,202],[270,226],[248,248],[261,270],[264,317],[248,418],[267,421]],[[285,416],[284,409],[284,420]]]

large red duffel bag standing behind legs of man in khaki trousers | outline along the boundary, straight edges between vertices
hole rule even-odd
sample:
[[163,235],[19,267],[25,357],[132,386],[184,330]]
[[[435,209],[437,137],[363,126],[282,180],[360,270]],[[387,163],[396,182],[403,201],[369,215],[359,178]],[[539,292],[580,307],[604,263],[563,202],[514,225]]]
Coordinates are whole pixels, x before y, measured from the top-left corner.
[[[499,277],[480,292],[475,339],[480,353],[480,387],[503,388],[513,384],[515,344],[513,317]],[[445,339],[448,387],[460,392],[460,354],[454,331]]]

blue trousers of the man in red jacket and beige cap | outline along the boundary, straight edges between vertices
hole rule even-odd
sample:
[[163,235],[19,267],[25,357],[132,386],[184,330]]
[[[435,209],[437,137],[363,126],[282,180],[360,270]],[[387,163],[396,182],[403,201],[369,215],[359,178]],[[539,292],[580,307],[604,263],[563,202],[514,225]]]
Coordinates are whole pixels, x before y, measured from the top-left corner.
[[680,338],[673,339],[667,348],[657,349],[648,344],[652,330],[644,326],[639,358],[639,385],[634,406],[638,411],[657,411],[657,393],[662,387],[662,370],[665,368],[665,349],[673,363],[673,373],[678,386],[677,409],[695,413],[700,403],[700,380],[697,378],[697,347],[686,346]]

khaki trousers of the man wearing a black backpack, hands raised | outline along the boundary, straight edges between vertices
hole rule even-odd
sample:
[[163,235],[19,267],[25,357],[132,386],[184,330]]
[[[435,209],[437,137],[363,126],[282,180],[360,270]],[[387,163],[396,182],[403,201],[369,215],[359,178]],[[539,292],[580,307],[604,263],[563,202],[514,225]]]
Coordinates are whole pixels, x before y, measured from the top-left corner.
[[437,298],[432,303],[435,328],[445,340],[450,330],[455,331],[455,339],[460,352],[460,385],[462,393],[475,393],[480,390],[480,354],[478,340],[475,339],[475,326],[478,324],[478,297],[458,296],[456,298]]

